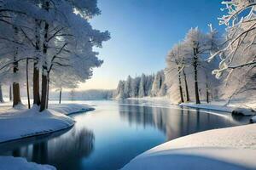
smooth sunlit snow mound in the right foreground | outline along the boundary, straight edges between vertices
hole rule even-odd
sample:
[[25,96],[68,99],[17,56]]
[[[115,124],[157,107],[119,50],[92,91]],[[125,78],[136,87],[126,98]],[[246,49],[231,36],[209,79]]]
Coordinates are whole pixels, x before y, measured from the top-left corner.
[[256,169],[256,124],[174,139],[144,152],[124,170]]

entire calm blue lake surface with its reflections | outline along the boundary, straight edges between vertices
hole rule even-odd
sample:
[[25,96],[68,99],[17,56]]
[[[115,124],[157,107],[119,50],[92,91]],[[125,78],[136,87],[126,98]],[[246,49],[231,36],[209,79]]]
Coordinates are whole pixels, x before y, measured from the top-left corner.
[[[77,101],[96,111],[73,115],[66,132],[0,144],[0,155],[22,156],[60,170],[119,169],[168,140],[204,130],[248,123],[248,117],[195,111],[143,101]],[[12,126],[12,125],[10,125]]]

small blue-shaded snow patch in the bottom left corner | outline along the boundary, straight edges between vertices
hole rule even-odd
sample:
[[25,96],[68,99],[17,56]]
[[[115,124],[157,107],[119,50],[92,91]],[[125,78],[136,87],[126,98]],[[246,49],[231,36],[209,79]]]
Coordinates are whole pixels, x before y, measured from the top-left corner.
[[55,170],[55,167],[49,165],[40,165],[34,162],[28,162],[24,158],[13,156],[0,156],[0,169],[4,170]]

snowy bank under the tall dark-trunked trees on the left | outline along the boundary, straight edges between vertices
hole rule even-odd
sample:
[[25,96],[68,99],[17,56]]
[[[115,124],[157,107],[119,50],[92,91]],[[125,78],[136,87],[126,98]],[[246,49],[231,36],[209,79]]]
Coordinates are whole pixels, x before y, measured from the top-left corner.
[[38,106],[35,105],[31,110],[0,107],[0,142],[53,133],[72,127],[74,121],[66,115],[92,110],[88,105],[49,105],[49,107],[49,110],[43,112],[39,112]]

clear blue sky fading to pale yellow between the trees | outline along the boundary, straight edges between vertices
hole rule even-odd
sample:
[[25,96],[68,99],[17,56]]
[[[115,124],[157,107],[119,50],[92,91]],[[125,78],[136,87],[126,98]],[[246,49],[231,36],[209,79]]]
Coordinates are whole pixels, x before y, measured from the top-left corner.
[[128,75],[151,74],[165,68],[166,54],[195,26],[219,31],[222,0],[98,0],[102,14],[92,26],[111,32],[111,40],[98,50],[104,64],[79,89],[116,88]]

